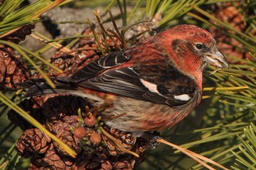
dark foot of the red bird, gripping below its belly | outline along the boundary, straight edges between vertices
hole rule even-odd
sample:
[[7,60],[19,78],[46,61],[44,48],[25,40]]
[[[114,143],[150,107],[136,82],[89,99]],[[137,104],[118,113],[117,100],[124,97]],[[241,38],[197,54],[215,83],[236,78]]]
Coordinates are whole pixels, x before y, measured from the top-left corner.
[[150,150],[154,150],[157,146],[161,145],[161,143],[157,142],[157,139],[162,139],[159,132],[144,132],[141,138],[148,140],[148,148],[150,148]]

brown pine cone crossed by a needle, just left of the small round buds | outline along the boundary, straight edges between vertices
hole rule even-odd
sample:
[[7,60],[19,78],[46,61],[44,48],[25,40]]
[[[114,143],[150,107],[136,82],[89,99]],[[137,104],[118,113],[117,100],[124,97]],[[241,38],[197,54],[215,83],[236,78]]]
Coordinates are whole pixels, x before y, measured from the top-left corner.
[[[52,132],[57,138],[59,138],[63,143],[68,145],[76,153],[81,152],[81,142],[74,134],[72,133],[72,128],[76,127],[79,121],[79,117],[76,115],[66,116],[62,120],[59,120],[56,124],[52,126]],[[53,142],[56,150],[61,155],[68,155],[63,151],[56,142]]]

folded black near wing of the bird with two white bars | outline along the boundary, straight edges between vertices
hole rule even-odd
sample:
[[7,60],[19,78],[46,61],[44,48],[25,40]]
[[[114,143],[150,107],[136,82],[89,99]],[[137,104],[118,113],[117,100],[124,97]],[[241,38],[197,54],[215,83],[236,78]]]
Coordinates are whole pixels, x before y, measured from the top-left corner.
[[[183,78],[189,79],[187,76]],[[184,86],[175,85],[177,83],[172,81],[176,80],[172,80],[172,78],[166,81],[169,81],[168,84],[173,87],[163,87],[163,85],[143,80],[132,67],[122,67],[106,71],[100,76],[95,76],[79,83],[72,83],[79,87],[86,87],[151,103],[166,104],[171,107],[189,103],[194,97],[196,85],[194,87],[186,87],[186,84]],[[186,81],[188,80],[184,80],[184,82]],[[181,95],[185,95],[185,98],[183,97],[184,99],[182,99]]]

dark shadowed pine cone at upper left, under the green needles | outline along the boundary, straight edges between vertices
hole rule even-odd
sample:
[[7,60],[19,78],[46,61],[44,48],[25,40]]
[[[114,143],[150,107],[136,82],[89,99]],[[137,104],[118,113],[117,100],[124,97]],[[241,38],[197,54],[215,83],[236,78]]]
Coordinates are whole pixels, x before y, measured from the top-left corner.
[[24,41],[27,35],[31,34],[31,29],[35,29],[34,24],[24,25],[19,30],[5,36],[3,39],[6,41],[11,41],[12,43],[19,44],[20,41]]

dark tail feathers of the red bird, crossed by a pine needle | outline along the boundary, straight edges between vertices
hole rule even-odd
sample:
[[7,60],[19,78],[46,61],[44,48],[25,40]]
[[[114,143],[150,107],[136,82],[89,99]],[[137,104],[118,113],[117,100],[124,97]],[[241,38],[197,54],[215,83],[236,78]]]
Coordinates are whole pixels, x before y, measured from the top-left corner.
[[51,80],[56,86],[55,89],[52,89],[49,83],[42,78],[31,79],[17,85],[26,89],[25,96],[27,97],[44,94],[72,94],[72,92],[77,92],[77,88],[70,83],[58,81],[56,78],[51,78]]

